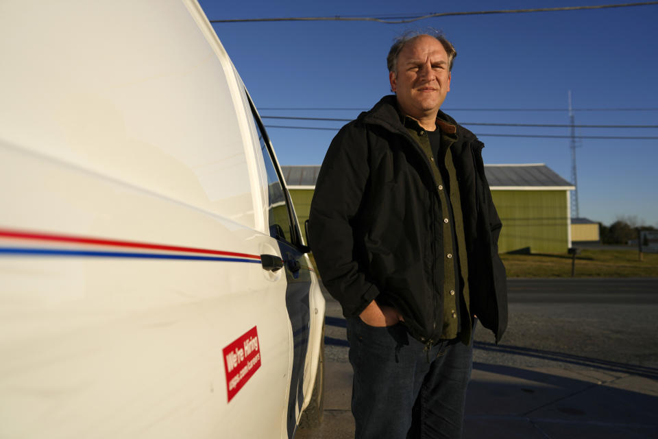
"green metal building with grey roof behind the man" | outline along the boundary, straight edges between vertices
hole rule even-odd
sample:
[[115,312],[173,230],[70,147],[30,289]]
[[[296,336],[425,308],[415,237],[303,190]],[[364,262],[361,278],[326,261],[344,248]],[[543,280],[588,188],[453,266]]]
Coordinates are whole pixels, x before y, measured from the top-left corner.
[[[319,166],[283,166],[302,228],[308,219]],[[569,196],[574,186],[543,163],[485,165],[502,221],[500,252],[565,253],[571,247]]]

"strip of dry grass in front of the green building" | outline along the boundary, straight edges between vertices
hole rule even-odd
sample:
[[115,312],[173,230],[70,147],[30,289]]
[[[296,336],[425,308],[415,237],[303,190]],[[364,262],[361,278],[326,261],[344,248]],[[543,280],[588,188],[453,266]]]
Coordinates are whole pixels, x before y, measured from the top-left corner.
[[[508,277],[570,277],[570,254],[501,254]],[[658,254],[637,250],[582,250],[576,277],[656,277]]]

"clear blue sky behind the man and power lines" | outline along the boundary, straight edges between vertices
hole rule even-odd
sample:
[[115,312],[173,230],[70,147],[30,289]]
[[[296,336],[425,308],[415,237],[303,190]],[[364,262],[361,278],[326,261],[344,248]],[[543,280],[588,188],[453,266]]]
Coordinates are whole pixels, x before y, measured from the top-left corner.
[[[250,1],[201,0],[209,19],[378,16],[613,3],[571,1]],[[228,4],[227,4],[228,3]],[[404,25],[314,21],[217,23],[261,116],[353,119],[390,93],[386,56],[409,29],[441,29],[458,56],[443,110],[476,134],[570,134],[569,128],[469,126],[467,123],[658,125],[658,5],[607,10],[450,16]],[[349,108],[275,110],[272,108]],[[563,108],[482,111],[459,108]],[[282,165],[319,165],[341,122],[263,119]],[[580,128],[582,136],[658,137],[658,129]],[[485,163],[546,163],[571,180],[570,139],[481,136]],[[582,139],[576,150],[581,217],[618,217],[658,226],[658,140]]]

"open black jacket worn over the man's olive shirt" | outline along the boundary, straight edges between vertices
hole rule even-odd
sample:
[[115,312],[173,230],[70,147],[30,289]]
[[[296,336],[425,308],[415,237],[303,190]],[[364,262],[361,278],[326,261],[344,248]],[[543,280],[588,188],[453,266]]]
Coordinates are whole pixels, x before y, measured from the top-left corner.
[[[430,163],[386,96],[334,137],[310,206],[309,239],[322,281],[358,316],[374,300],[395,307],[409,333],[438,340],[443,327],[442,206]],[[500,340],[507,281],[498,257],[501,223],[482,160],[483,143],[439,112],[454,130],[468,256],[470,309]]]

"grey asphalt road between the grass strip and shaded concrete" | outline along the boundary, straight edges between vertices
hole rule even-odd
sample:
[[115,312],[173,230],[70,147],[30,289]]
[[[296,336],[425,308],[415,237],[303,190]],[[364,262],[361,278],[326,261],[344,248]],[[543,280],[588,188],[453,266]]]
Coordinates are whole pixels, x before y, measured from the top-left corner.
[[[347,362],[341,307],[326,297],[326,354]],[[475,361],[548,366],[548,353],[556,353],[658,367],[656,316],[658,278],[510,279],[507,332],[495,346],[491,332],[478,327]]]

